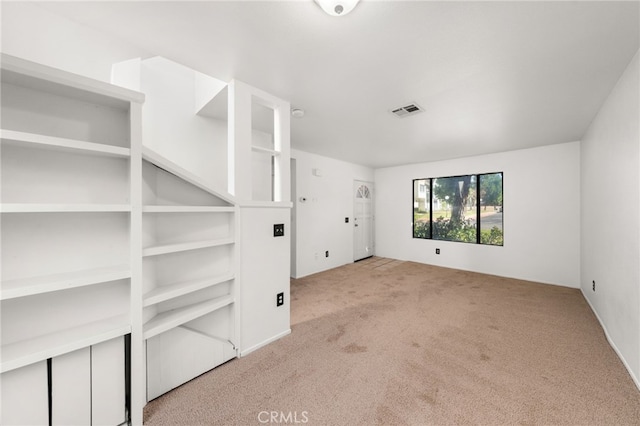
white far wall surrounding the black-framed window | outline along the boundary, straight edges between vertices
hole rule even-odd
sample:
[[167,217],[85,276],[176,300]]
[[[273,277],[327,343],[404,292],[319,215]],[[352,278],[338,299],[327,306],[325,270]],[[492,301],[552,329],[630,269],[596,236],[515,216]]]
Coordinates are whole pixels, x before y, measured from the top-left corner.
[[[577,288],[579,162],[572,142],[377,169],[377,254]],[[412,238],[412,179],[490,172],[504,172],[503,247]]]

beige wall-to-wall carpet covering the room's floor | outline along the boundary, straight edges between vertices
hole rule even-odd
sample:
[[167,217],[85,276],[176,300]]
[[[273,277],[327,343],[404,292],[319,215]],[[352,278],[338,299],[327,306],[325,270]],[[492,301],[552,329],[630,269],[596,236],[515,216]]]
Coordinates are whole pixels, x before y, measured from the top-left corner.
[[145,423],[640,424],[578,290],[372,258],[292,280],[291,305],[290,336],[152,401]]

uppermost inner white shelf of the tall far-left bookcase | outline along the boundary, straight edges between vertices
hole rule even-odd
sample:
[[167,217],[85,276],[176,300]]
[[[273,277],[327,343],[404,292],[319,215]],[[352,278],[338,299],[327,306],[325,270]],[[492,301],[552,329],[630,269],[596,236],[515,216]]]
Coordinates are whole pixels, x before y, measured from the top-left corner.
[[129,158],[131,156],[131,150],[129,148],[79,141],[75,139],[38,135],[35,133],[0,129],[0,137],[2,138],[3,145],[35,145],[39,147],[54,148],[61,151],[82,152],[107,157]]

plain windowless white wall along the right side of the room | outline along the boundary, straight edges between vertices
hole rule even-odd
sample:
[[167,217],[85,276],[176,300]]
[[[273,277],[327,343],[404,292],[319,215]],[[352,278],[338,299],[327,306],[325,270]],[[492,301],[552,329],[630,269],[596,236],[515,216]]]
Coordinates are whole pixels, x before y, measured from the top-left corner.
[[[582,140],[581,288],[640,387],[640,52]],[[592,282],[596,290],[592,290]]]

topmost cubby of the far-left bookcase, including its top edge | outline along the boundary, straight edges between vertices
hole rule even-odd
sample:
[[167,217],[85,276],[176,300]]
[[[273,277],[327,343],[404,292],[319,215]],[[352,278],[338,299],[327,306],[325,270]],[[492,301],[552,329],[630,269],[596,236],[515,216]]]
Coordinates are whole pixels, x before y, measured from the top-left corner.
[[129,148],[144,95],[2,55],[3,129]]

